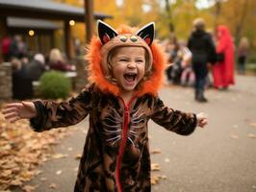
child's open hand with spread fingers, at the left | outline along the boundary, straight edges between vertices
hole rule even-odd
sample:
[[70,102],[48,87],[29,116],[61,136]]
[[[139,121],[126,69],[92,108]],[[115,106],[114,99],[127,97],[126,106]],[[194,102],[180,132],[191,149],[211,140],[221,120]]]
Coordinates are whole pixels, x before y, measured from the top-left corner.
[[33,102],[8,104],[3,109],[5,118],[14,123],[19,119],[30,119],[37,116],[37,109]]

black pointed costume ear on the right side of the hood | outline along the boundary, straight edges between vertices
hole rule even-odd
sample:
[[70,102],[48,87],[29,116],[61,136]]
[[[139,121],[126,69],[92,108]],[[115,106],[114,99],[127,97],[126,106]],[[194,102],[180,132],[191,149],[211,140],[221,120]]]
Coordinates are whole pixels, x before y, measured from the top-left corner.
[[141,36],[141,38],[143,38],[150,46],[155,37],[155,23],[151,22],[142,27],[139,32],[137,32],[137,36]]

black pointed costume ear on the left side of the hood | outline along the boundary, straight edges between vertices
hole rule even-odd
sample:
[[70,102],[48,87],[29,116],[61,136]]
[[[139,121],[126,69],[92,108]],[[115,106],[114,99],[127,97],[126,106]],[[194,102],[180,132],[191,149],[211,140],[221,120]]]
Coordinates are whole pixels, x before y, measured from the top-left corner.
[[98,36],[103,45],[117,35],[117,32],[115,32],[111,26],[101,20],[98,20]]

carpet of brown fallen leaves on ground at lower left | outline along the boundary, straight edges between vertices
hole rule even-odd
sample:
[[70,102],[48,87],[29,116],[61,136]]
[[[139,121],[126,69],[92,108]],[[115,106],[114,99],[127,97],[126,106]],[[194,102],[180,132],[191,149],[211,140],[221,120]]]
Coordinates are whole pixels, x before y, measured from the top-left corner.
[[[0,190],[8,191],[11,186],[22,188],[25,181],[40,174],[38,165],[52,157],[52,146],[70,132],[72,128],[34,132],[29,121],[11,124],[0,112]],[[34,186],[25,185],[23,190],[33,191]]]

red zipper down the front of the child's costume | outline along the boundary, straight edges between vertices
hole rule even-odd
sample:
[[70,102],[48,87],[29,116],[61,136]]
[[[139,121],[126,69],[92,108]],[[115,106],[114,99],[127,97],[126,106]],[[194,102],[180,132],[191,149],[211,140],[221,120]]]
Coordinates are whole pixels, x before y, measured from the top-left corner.
[[131,98],[128,105],[125,104],[125,102],[123,101],[123,99],[121,97],[119,97],[119,98],[122,101],[122,104],[124,106],[124,122],[123,122],[122,137],[121,137],[120,144],[119,144],[119,154],[116,158],[116,167],[115,167],[115,180],[116,180],[117,192],[122,191],[121,183],[119,180],[119,174],[120,174],[122,156],[123,156],[124,148],[125,148],[126,141],[127,141],[127,130],[128,130],[128,124],[130,121],[130,118],[129,118],[130,106],[131,106],[133,100],[136,98],[136,95],[134,95]]

